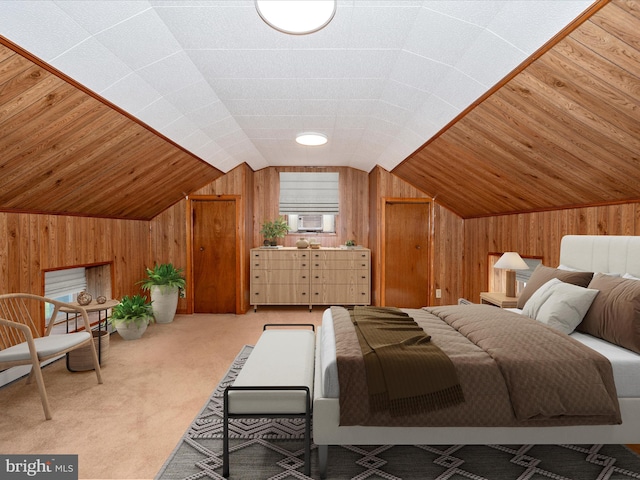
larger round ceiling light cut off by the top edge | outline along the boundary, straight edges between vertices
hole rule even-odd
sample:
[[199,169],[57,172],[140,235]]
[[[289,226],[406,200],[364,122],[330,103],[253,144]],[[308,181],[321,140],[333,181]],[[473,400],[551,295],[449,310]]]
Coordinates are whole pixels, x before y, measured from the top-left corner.
[[255,0],[267,25],[283,33],[305,35],[326,27],[336,13],[336,0]]

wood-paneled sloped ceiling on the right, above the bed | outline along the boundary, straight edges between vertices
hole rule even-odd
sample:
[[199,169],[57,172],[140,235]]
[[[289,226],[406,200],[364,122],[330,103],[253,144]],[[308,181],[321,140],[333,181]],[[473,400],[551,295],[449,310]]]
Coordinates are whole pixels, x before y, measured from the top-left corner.
[[393,173],[465,218],[639,201],[639,32],[605,5]]

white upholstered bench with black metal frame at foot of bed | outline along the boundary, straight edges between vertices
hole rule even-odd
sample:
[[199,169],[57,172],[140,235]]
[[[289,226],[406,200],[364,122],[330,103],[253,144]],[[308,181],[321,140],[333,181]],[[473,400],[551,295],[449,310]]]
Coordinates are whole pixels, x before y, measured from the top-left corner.
[[[291,327],[311,327],[311,330]],[[225,477],[229,476],[229,419],[265,417],[305,419],[304,464],[305,475],[310,475],[314,362],[315,327],[312,324],[264,326],[235,382],[224,392],[222,474]]]

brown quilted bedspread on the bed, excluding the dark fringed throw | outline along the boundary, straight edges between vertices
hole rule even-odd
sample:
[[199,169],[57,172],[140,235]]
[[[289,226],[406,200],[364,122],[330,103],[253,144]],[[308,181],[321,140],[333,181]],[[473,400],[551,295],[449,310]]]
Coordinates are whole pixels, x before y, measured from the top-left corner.
[[332,307],[341,425],[550,426],[621,422],[609,361],[567,335],[489,305],[405,311],[453,361],[465,403],[401,417],[372,413],[362,353],[349,313]]

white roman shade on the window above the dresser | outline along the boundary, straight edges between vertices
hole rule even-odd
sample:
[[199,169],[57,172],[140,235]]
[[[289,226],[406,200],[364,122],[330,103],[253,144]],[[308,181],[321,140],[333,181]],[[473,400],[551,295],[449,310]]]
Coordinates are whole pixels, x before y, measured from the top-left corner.
[[338,172],[280,172],[281,215],[337,215]]

